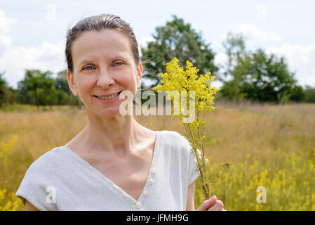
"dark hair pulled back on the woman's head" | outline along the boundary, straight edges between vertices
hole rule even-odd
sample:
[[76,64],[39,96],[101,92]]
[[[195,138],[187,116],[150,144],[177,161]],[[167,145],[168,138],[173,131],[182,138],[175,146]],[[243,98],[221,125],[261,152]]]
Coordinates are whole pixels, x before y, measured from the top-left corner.
[[101,14],[101,15],[93,15],[88,18],[84,18],[80,20],[72,29],[67,31],[67,42],[65,48],[65,56],[67,60],[67,66],[69,72],[74,72],[73,60],[72,60],[72,44],[73,41],[79,37],[79,34],[88,31],[102,31],[105,29],[116,29],[122,31],[126,34],[130,39],[131,49],[133,50],[133,57],[135,59],[135,63],[138,64],[140,62],[139,50],[138,50],[138,42],[135,39],[135,34],[133,33],[133,29],[130,27],[128,23],[122,20],[117,15],[111,14]]

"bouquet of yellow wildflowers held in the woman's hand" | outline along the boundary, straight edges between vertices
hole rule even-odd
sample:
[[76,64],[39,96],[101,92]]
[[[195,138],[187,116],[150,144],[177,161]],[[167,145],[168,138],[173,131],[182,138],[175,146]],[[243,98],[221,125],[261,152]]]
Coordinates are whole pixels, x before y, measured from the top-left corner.
[[[157,85],[153,90],[166,92],[166,100],[172,101],[174,112],[172,116],[177,116],[181,120],[183,135],[192,147],[196,167],[201,177],[203,194],[208,200],[213,187],[210,186],[207,178],[207,159],[204,153],[206,132],[203,132],[201,127],[208,124],[208,121],[203,120],[206,113],[215,110],[213,95],[217,94],[218,89],[210,84],[215,79],[215,76],[210,76],[210,72],[198,77],[199,69],[193,67],[189,60],[186,62],[186,70],[178,65],[178,61],[177,58],[173,58],[170,63],[166,63],[167,72],[159,75],[163,85]],[[187,110],[187,105],[189,105],[189,110]]]

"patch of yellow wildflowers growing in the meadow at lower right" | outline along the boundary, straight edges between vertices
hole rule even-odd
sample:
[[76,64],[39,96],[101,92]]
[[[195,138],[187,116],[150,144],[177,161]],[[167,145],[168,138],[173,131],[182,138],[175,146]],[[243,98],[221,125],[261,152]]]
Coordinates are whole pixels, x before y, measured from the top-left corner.
[[[282,159],[278,153],[276,158]],[[293,169],[295,167],[295,169]],[[227,210],[315,210],[315,161],[305,160],[302,155],[286,153],[283,165],[274,162],[262,163],[246,155],[244,162],[212,164],[209,176],[217,188]],[[266,188],[266,203],[257,203],[257,188]],[[195,204],[200,205],[202,188],[196,186]]]

